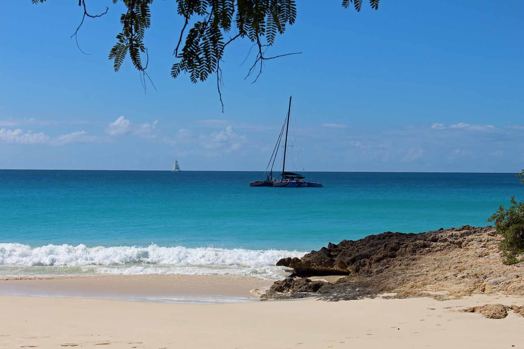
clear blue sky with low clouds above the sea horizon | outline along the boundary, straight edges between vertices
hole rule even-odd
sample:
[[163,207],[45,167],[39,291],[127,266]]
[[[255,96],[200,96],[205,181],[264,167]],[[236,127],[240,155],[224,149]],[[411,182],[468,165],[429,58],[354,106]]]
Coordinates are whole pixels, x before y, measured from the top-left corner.
[[[524,167],[524,3],[383,0],[298,2],[255,84],[241,66],[251,44],[225,53],[216,81],[173,80],[182,22],[174,1],[152,5],[147,94],[126,60],[107,54],[121,4],[8,2],[0,14],[0,168],[264,170],[293,95],[307,171],[518,172]],[[495,4],[495,5],[494,5]],[[173,22],[174,18],[174,22]],[[294,138],[293,138],[293,144]],[[298,167],[298,165],[296,166]],[[299,168],[294,168],[299,170]]]

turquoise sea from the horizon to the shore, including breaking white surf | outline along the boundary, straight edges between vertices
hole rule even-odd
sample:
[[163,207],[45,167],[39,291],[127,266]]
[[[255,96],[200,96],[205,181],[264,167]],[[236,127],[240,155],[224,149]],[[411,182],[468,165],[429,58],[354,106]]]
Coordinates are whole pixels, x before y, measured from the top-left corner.
[[313,172],[323,188],[249,187],[261,172],[0,170],[0,276],[281,276],[284,256],[384,231],[486,219],[524,186],[505,173]]

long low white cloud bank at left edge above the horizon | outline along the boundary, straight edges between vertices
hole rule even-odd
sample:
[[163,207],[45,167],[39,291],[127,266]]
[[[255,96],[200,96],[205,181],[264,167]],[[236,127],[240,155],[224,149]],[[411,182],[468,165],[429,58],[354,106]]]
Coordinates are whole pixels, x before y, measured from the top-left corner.
[[2,128],[0,129],[0,143],[64,145],[73,142],[83,143],[99,140],[99,137],[88,136],[86,133],[85,131],[77,131],[51,138],[43,132],[24,132],[22,129],[8,130]]

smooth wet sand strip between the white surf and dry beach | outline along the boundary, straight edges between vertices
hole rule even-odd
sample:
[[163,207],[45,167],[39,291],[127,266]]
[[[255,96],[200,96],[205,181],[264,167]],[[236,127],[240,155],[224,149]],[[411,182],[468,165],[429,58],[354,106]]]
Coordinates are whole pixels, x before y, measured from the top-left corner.
[[271,281],[247,276],[116,275],[0,280],[0,295],[179,302],[239,302]]

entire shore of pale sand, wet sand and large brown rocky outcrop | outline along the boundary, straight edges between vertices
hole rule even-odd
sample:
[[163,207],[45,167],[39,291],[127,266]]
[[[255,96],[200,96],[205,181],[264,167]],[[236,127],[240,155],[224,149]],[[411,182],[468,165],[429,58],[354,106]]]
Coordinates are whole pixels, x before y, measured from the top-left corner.
[[[275,283],[244,275],[4,277],[0,347],[516,347],[524,264],[503,265],[498,241],[492,227],[471,226],[370,235],[280,260],[302,277]],[[348,275],[303,275],[318,271]]]

